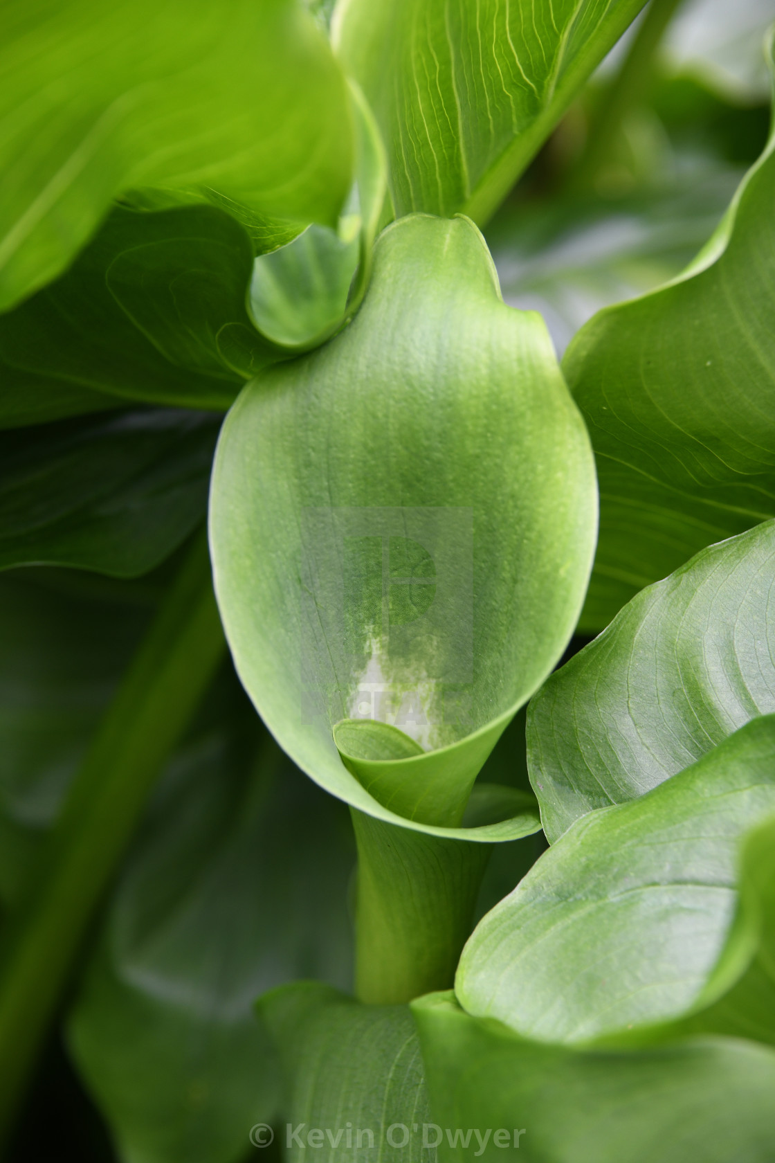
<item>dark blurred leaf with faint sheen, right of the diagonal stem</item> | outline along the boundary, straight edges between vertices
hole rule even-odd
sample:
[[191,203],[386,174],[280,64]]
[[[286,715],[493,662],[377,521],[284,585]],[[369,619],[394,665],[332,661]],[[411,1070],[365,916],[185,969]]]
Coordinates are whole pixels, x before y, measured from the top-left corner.
[[350,979],[346,812],[261,737],[238,690],[220,701],[158,787],[67,1021],[124,1163],[244,1158],[280,1097],[256,996]]

